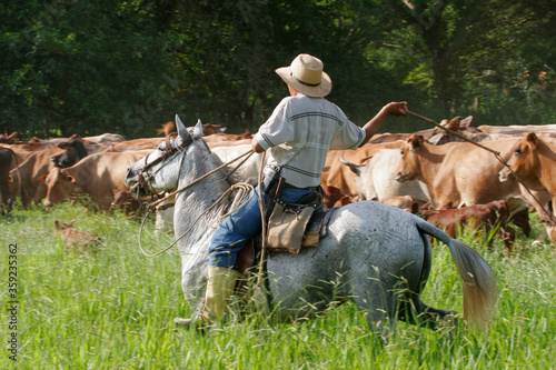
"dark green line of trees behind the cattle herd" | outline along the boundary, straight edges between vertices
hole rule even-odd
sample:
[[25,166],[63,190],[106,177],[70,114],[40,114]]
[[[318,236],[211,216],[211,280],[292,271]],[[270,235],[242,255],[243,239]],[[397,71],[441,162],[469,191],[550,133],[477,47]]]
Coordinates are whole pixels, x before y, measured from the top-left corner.
[[[23,0],[0,11],[0,131],[20,138],[256,131],[274,70],[325,62],[358,124],[383,104],[478,124],[556,123],[556,10],[542,0]],[[385,127],[409,132],[426,123]]]

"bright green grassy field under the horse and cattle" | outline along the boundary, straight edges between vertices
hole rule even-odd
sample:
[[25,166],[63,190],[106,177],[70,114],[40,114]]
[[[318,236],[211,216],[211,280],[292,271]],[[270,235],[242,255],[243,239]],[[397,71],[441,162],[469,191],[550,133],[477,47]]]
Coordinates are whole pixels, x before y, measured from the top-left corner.
[[[77,229],[98,233],[100,251],[66,250],[52,233],[57,219],[76,219]],[[549,242],[530,247],[533,239],[520,236],[507,258],[502,243],[490,251],[464,236],[498,279],[499,302],[488,329],[431,331],[400,323],[380,346],[353,304],[307,322],[278,324],[252,314],[206,336],[176,328],[172,319],[190,310],[179,286],[179,256],[172,249],[158,258],[143,257],[137,244],[139,223],[119,213],[92,214],[82,206],[60,204],[51,212],[14,210],[0,224],[0,369],[556,367],[556,258]],[[539,232],[535,221],[533,237]],[[146,233],[150,251],[172,239],[153,234],[152,223]],[[17,281],[11,287],[17,290],[10,291],[13,260]],[[435,246],[433,266],[425,302],[461,312],[461,283],[445,246]],[[17,361],[10,359],[10,349],[17,350]]]

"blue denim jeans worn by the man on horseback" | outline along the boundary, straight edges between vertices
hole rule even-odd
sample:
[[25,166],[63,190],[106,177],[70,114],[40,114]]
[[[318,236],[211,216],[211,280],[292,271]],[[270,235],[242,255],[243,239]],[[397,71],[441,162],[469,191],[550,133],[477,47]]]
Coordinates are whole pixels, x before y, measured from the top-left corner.
[[[295,203],[308,193],[310,193],[309,190],[286,188],[282,190],[280,199]],[[249,197],[251,197],[250,200]],[[266,204],[268,194],[264,193],[262,198]],[[247,202],[245,207],[226,218],[216,229],[209,247],[209,266],[234,268],[241,249],[252,237],[261,232],[258,188],[249,193],[244,200],[245,202]]]

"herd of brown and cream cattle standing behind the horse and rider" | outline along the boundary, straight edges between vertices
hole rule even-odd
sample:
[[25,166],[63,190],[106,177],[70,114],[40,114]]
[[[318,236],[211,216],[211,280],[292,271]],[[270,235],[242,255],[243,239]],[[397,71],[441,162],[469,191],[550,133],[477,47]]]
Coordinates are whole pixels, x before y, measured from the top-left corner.
[[[516,230],[529,234],[529,212],[556,240],[553,199],[556,186],[556,127],[479,126],[471,117],[444,120],[438,128],[413,133],[383,133],[357,150],[330,151],[321,176],[325,206],[376,200],[416,213],[450,236],[468,227],[504,240],[509,256]],[[171,122],[157,137],[126,140],[119,134],[17,141],[0,134],[0,207],[11,210],[17,199],[48,210],[61,201],[87,201],[91,209],[138,216],[145,202],[123,183],[129,164],[163,143]],[[465,136],[469,141],[464,141]],[[251,134],[226,134],[203,124],[203,138],[221,162],[248,151]],[[475,143],[480,143],[480,148]],[[485,148],[488,148],[486,150]],[[497,153],[497,154],[495,154]],[[260,156],[239,169],[227,169],[230,182],[257,178]],[[171,202],[157,211],[157,229],[171,229]],[[75,247],[79,230],[57,221]],[[68,239],[66,238],[66,239]],[[83,240],[100,240],[92,236]],[[489,239],[492,240],[492,239]]]

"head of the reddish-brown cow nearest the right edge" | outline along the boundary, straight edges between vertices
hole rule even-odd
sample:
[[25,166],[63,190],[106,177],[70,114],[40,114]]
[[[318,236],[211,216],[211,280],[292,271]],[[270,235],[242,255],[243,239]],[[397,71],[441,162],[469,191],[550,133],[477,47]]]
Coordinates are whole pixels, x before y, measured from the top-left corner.
[[[498,172],[498,179],[500,182],[507,182],[515,180],[514,173],[524,181],[527,187],[542,190],[543,186],[538,181],[538,144],[539,139],[534,132],[527,133],[527,136],[519,140],[509,158],[508,166]],[[514,171],[514,173],[512,172]]]

